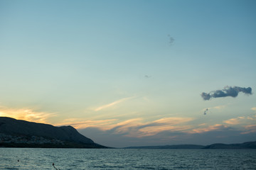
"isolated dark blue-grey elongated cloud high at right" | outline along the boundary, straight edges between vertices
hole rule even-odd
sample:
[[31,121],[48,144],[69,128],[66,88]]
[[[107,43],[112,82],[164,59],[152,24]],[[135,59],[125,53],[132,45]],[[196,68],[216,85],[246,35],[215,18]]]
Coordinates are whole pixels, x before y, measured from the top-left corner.
[[250,87],[239,87],[239,86],[226,86],[223,90],[211,91],[210,93],[203,92],[201,94],[203,100],[208,101],[210,98],[220,98],[220,97],[236,97],[238,93],[242,92],[244,94],[252,94],[252,88]]

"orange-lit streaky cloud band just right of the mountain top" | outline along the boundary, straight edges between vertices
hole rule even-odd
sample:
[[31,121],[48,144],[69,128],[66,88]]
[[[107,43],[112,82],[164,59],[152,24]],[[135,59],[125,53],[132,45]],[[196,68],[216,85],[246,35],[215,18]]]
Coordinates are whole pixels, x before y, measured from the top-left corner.
[[161,118],[145,122],[143,118],[134,118],[120,121],[117,119],[110,120],[80,120],[67,119],[63,120],[60,125],[72,125],[74,128],[97,128],[102,131],[109,131],[112,134],[123,135],[126,137],[146,137],[156,135],[164,131],[181,131],[191,128],[189,125],[183,125],[193,120],[193,118]]

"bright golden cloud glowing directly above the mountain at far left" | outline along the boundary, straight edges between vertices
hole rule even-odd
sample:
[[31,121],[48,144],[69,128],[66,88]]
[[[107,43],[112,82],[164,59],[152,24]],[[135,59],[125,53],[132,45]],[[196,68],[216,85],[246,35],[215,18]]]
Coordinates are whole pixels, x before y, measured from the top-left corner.
[[36,123],[48,123],[49,118],[54,117],[55,113],[36,111],[31,108],[0,107],[0,116],[15,118],[18,120],[27,120]]

